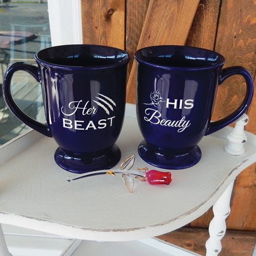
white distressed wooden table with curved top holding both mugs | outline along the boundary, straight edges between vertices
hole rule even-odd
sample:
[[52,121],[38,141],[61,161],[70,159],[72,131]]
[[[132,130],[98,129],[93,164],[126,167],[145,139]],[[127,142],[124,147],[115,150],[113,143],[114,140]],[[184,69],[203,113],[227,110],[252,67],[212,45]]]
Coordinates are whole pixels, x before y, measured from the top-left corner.
[[[133,193],[126,190],[118,174],[67,182],[73,174],[55,164],[55,141],[31,131],[0,149],[0,223],[81,240],[134,241],[175,230],[214,205],[206,248],[207,255],[217,255],[233,181],[256,160],[256,136],[250,133],[246,133],[243,155],[225,152],[231,131],[226,127],[204,137],[199,143],[201,161],[188,169],[170,170],[170,185],[136,180]],[[117,141],[121,160],[135,153],[134,167],[153,168],[137,154],[141,140],[135,106],[127,104]],[[0,248],[0,255],[8,255],[3,239]]]

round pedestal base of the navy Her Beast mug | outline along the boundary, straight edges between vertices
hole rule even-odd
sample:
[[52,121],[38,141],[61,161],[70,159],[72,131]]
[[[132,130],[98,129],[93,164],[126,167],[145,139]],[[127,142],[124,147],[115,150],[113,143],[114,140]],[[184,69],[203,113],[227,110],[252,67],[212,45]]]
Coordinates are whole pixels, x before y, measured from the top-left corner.
[[61,147],[54,154],[55,162],[62,169],[71,173],[83,174],[94,170],[110,169],[115,166],[121,158],[120,148],[114,144],[108,151],[101,154],[75,154],[70,156]]

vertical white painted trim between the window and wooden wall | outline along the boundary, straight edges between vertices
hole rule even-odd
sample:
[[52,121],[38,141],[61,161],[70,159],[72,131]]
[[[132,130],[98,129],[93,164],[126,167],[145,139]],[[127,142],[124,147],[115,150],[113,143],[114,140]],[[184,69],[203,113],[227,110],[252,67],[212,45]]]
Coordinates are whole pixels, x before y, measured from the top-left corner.
[[52,46],[82,44],[81,0],[48,0]]

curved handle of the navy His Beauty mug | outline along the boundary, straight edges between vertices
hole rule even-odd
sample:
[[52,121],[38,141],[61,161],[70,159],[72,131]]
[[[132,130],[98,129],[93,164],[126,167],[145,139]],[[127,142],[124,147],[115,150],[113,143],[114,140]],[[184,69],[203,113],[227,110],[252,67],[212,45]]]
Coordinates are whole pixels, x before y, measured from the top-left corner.
[[242,75],[244,77],[246,82],[245,98],[241,103],[241,105],[238,107],[238,109],[235,110],[233,113],[231,113],[230,115],[228,115],[227,117],[224,117],[219,121],[210,122],[205,135],[209,135],[211,133],[217,132],[218,130],[222,129],[226,125],[238,119],[240,116],[244,114],[244,112],[247,110],[251,102],[252,95],[253,95],[253,80],[250,73],[245,68],[240,66],[234,66],[234,67],[223,69],[221,71],[219,84],[221,84],[225,79],[227,79],[229,76],[232,76],[232,75]]

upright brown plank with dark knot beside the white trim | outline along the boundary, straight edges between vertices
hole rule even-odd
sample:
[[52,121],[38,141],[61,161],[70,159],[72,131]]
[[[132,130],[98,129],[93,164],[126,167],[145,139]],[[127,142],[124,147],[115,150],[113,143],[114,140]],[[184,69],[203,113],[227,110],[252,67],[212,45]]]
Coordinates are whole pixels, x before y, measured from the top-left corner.
[[124,49],[125,0],[81,0],[83,44]]

